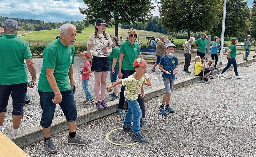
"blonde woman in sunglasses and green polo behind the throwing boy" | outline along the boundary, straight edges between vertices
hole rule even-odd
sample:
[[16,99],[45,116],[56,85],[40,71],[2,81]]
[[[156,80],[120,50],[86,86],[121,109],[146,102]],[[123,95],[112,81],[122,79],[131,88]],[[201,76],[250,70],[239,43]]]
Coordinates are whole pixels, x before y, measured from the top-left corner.
[[[138,38],[138,33],[134,29],[129,29],[126,34],[127,40],[120,47],[120,59],[119,59],[119,72],[118,78],[124,79],[128,76],[132,75],[135,70],[133,68],[133,61],[136,58],[139,58],[140,48],[139,44],[135,42]],[[120,98],[119,98],[119,106],[118,106],[118,114],[121,116],[125,116],[124,112],[124,90],[125,86],[122,85]]]

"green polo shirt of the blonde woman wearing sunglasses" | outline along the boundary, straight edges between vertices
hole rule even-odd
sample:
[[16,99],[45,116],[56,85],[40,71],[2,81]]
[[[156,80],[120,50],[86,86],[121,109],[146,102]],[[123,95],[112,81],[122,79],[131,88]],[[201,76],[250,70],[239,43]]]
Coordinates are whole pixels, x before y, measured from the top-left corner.
[[133,43],[130,44],[129,40],[126,40],[121,47],[120,53],[124,54],[122,69],[123,70],[134,70],[133,61],[140,55],[139,44]]

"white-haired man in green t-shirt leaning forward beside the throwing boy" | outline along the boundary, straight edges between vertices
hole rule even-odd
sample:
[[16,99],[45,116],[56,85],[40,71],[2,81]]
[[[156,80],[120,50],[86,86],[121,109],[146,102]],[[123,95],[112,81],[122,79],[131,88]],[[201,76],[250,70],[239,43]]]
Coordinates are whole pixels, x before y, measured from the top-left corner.
[[88,143],[75,130],[77,111],[72,88],[76,28],[72,24],[64,24],[59,34],[60,38],[47,44],[43,50],[43,65],[37,86],[43,110],[40,125],[43,127],[44,148],[50,154],[58,152],[50,136],[56,105],[60,105],[68,122],[68,144]]

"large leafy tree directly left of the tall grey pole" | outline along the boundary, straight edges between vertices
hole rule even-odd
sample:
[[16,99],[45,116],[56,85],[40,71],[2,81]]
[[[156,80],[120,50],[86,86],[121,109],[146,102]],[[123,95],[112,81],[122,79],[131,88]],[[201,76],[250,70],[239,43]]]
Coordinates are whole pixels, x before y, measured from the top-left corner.
[[158,3],[160,24],[170,32],[187,29],[188,39],[191,31],[210,30],[219,21],[218,12],[223,4],[212,0],[159,0]]

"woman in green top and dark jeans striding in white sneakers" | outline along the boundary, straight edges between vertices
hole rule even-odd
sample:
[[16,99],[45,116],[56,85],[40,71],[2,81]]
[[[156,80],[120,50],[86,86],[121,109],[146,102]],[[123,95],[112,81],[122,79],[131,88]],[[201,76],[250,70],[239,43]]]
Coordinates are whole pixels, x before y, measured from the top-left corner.
[[235,60],[235,56],[236,56],[236,44],[237,44],[237,39],[233,38],[231,40],[231,45],[228,48],[228,52],[227,52],[227,59],[228,59],[228,64],[226,65],[226,67],[222,70],[222,72],[220,73],[220,77],[226,77],[226,75],[224,75],[225,71],[231,66],[233,65],[234,67],[234,72],[235,72],[235,78],[237,79],[242,79],[243,76],[238,75],[237,72],[237,64],[236,64],[236,60]]

